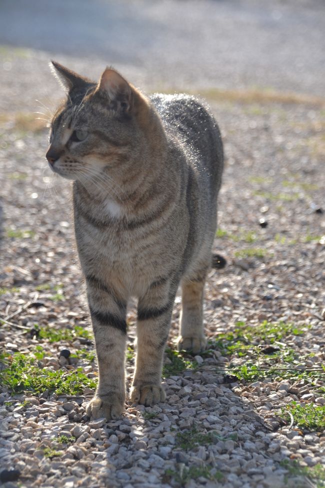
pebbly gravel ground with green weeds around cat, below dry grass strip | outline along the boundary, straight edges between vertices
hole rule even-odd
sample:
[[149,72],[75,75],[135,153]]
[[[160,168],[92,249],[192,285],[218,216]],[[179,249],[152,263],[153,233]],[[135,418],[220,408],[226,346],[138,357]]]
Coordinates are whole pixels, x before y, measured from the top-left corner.
[[[10,56],[12,75],[21,58]],[[33,66],[35,91],[44,80],[52,86]],[[6,94],[10,86],[8,78]],[[23,80],[12,77],[12,86],[23,100]],[[127,403],[120,420],[106,422],[85,415],[97,368],[70,188],[47,169],[47,134],[26,112],[29,95],[0,114],[0,456],[2,469],[16,470],[0,473],[4,486],[323,486],[323,105],[211,94],[226,153],[214,250],[227,266],[206,286],[209,349],[194,358],[172,352],[177,297],[167,402]],[[134,320],[130,306],[128,384]],[[61,373],[76,374],[75,384],[48,387]]]

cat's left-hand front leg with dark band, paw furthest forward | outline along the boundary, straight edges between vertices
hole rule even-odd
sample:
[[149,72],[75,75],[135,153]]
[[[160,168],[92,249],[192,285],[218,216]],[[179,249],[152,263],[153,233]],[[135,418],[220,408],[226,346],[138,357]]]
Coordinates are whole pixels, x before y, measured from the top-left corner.
[[99,373],[86,413],[109,420],[119,417],[125,404],[126,303],[99,280],[86,281]]

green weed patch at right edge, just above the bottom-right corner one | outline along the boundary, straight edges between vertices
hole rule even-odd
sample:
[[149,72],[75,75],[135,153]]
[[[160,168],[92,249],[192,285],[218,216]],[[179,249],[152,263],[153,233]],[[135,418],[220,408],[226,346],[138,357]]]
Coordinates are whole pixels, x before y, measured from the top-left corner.
[[291,413],[297,427],[317,432],[325,429],[325,405],[315,405],[312,402],[300,405],[292,401],[281,409],[281,416],[287,417],[287,412]]

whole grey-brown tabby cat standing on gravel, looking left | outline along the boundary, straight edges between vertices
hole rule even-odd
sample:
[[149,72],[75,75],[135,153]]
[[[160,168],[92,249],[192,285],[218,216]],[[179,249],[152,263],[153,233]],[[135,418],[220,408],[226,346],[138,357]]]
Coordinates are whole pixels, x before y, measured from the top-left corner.
[[46,159],[73,181],[75,237],[98,360],[98,387],[86,412],[115,419],[125,403],[131,296],[138,299],[133,403],[165,399],[163,353],[179,284],[178,349],[205,347],[203,289],[222,142],[214,118],[194,97],[147,98],[112,68],[94,83],[51,63],[67,98],[53,115]]

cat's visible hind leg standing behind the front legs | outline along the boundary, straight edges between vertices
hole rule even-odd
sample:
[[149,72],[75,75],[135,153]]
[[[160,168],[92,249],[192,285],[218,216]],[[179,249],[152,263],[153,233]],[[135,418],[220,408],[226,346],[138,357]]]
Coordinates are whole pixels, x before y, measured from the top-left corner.
[[198,353],[205,349],[203,297],[207,268],[193,273],[181,283],[180,334],[178,350]]

